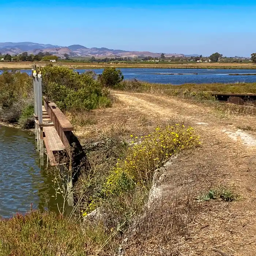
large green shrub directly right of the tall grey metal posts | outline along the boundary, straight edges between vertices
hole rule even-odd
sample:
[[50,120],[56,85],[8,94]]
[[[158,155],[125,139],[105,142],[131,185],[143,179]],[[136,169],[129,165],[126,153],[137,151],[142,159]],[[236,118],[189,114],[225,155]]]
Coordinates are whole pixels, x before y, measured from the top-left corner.
[[110,92],[95,79],[95,72],[78,74],[72,69],[47,65],[42,68],[44,94],[61,110],[90,110],[112,105]]

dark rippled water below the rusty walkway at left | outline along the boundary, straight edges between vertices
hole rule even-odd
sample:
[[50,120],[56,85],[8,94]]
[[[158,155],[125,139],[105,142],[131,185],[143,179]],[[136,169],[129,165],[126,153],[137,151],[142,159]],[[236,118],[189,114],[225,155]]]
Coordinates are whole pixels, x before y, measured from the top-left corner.
[[[52,177],[40,168],[34,135],[0,125],[0,216],[33,208],[57,211]],[[59,201],[59,200],[58,200]]]

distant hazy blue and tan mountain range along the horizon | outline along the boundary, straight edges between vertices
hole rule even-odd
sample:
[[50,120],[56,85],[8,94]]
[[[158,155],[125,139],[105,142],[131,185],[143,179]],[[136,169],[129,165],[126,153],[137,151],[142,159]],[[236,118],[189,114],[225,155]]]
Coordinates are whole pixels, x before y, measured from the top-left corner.
[[[127,51],[127,50],[114,50],[108,48],[87,48],[83,45],[70,45],[70,46],[59,46],[59,45],[51,45],[51,44],[37,44],[33,42],[5,42],[0,43],[0,52],[2,54],[10,54],[12,56],[18,55],[22,52],[27,52],[28,54],[38,54],[39,52],[49,52],[53,55],[62,57],[65,53],[69,56],[80,56],[80,57],[160,57],[161,53],[153,53],[153,52],[139,52],[139,51]],[[165,53],[166,57],[184,57],[184,54],[177,53]],[[191,55],[192,56],[192,55]],[[194,54],[193,56],[199,56]]]

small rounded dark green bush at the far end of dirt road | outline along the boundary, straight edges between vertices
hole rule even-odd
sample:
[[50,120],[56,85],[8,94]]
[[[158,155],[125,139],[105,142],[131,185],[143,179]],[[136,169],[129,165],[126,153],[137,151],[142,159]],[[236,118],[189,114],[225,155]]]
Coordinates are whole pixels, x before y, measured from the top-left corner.
[[98,76],[98,79],[103,86],[115,88],[118,83],[124,80],[124,76],[120,69],[107,67],[102,74]]

